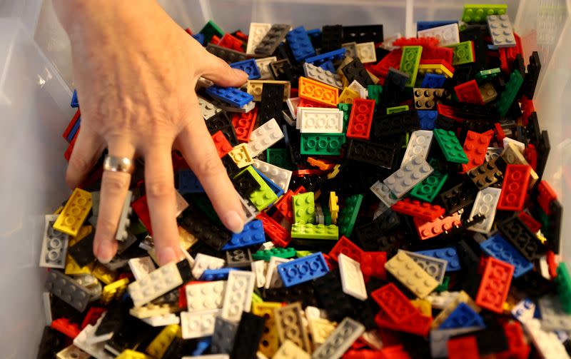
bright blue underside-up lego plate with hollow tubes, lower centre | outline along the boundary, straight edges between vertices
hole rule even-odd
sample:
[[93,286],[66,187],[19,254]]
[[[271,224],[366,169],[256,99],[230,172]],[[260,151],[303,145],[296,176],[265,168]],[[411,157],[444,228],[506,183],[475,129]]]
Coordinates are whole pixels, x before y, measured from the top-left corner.
[[278,273],[285,287],[319,278],[328,272],[329,267],[321,252],[278,264]]

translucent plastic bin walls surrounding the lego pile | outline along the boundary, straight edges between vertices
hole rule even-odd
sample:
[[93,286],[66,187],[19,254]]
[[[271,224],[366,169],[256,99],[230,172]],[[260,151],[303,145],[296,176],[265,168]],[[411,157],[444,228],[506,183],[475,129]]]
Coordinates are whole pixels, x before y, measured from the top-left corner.
[[[385,36],[415,35],[415,21],[460,19],[452,0],[160,0],[183,27],[213,19],[222,29],[248,31],[251,21],[305,25],[383,24]],[[569,0],[482,1],[508,4],[522,36],[525,61],[540,51],[534,103],[550,135],[544,178],[564,206],[562,237],[571,231],[571,21]],[[44,214],[70,193],[64,182],[61,133],[74,111],[69,40],[50,0],[0,0],[0,349],[3,358],[34,358],[44,326],[38,268]],[[571,258],[571,241],[562,239]]]

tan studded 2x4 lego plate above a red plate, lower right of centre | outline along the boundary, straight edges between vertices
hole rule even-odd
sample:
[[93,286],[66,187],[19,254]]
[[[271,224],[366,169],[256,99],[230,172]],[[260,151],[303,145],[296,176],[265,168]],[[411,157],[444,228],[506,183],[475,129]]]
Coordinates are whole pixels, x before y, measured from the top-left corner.
[[439,284],[404,251],[398,251],[396,256],[390,258],[385,263],[385,269],[421,299],[432,293]]

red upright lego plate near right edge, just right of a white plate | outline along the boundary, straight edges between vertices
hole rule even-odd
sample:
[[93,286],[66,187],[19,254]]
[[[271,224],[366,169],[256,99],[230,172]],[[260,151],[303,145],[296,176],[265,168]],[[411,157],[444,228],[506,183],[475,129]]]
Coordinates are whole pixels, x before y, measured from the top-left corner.
[[507,165],[504,183],[497,209],[500,211],[521,211],[525,202],[525,193],[530,183],[529,165]]

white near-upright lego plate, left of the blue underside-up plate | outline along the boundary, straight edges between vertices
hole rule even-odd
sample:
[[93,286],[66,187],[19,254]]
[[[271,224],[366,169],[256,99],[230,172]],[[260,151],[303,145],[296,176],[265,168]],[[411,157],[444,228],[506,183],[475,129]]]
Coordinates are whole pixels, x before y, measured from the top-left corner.
[[254,277],[254,273],[242,270],[232,270],[228,274],[222,318],[239,322],[242,312],[250,311],[254,280],[256,280]]

